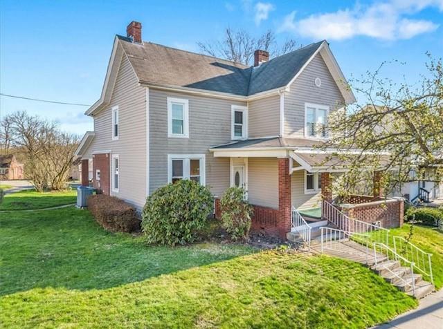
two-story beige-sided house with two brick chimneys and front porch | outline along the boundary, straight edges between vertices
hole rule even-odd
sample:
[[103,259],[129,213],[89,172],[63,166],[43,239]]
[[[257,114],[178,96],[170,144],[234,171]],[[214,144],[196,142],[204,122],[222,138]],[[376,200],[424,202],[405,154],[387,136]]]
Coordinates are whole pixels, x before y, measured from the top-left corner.
[[[82,173],[92,160],[93,187],[138,210],[156,189],[183,178],[216,198],[243,186],[253,229],[284,237],[300,213],[330,219],[331,174],[345,166],[324,164],[336,150],[314,146],[328,138],[329,113],[354,101],[327,41],[273,59],[257,50],[254,66],[245,66],[142,41],[141,23],[132,22],[127,37],[114,40],[100,100],[86,112],[94,131],[76,155]],[[82,174],[82,183],[88,178]],[[381,208],[380,195],[356,196],[354,203],[376,202],[354,216],[401,224],[403,203]],[[369,216],[373,208],[382,211]]]

